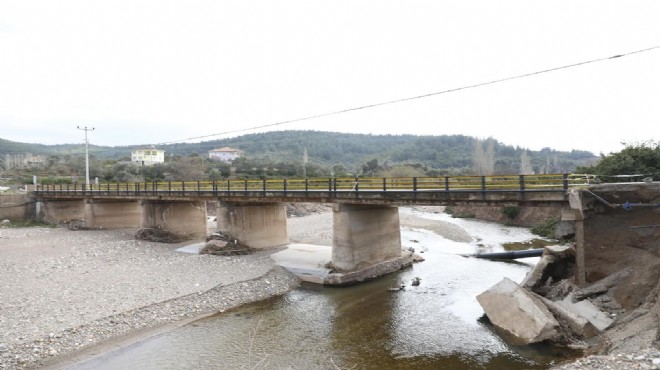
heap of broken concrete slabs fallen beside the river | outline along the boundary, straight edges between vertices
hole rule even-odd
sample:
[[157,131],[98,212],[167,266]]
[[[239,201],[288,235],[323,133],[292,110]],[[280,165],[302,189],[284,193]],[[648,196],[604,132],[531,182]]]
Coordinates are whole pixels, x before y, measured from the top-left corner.
[[[587,349],[598,346],[594,340],[608,329],[612,329],[608,331],[611,332],[608,338],[620,337],[628,330],[626,322],[651,320],[651,316],[645,315],[648,310],[622,315],[624,310],[610,295],[612,289],[631,274],[630,269],[580,289],[574,283],[574,270],[572,247],[548,246],[520,284],[505,278],[480,294],[477,300],[497,330],[516,344],[542,341]],[[615,328],[617,324],[621,325]],[[655,331],[647,334],[652,342]]]

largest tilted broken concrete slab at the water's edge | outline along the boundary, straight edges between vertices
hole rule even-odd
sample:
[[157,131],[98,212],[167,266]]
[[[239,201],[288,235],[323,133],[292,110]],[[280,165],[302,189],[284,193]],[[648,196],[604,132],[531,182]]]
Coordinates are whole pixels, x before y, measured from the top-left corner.
[[533,293],[504,278],[477,301],[495,327],[519,344],[558,340],[559,322]]

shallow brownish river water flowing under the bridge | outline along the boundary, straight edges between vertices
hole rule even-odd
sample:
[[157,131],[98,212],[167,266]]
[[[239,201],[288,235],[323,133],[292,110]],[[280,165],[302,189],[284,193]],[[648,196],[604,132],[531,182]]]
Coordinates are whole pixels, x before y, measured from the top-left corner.
[[[546,369],[562,359],[550,348],[507,345],[484,322],[475,298],[503,277],[520,282],[538,258],[462,256],[501,251],[502,243],[533,239],[529,231],[401,212],[458,224],[473,241],[404,229],[403,246],[426,261],[351,287],[303,284],[70,369]],[[405,290],[388,289],[400,284]]]

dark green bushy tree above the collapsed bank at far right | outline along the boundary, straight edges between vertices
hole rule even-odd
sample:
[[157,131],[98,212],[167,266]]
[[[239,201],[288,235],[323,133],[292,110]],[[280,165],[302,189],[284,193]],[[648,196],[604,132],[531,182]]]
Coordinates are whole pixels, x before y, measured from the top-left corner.
[[578,167],[576,172],[595,174],[608,182],[630,181],[631,177],[621,175],[640,175],[660,179],[660,141],[647,141],[626,144],[622,151],[602,155],[594,166]]

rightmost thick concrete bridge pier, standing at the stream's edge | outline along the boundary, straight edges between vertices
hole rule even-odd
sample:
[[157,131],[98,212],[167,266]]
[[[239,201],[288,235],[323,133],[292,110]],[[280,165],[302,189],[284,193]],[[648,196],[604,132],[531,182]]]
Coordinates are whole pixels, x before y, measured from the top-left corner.
[[364,269],[401,257],[399,209],[333,206],[332,264],[342,271]]

